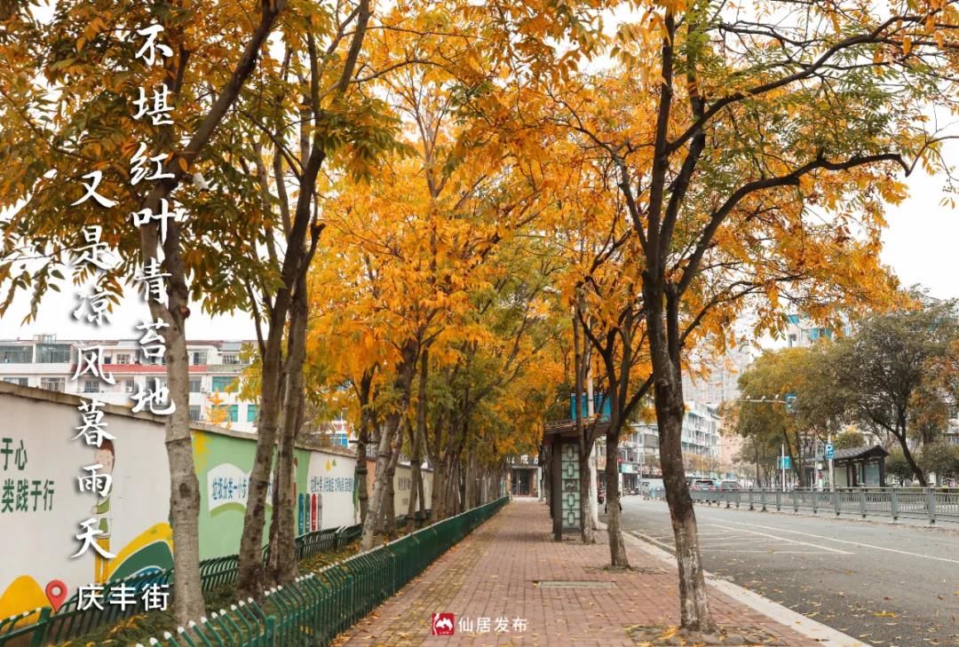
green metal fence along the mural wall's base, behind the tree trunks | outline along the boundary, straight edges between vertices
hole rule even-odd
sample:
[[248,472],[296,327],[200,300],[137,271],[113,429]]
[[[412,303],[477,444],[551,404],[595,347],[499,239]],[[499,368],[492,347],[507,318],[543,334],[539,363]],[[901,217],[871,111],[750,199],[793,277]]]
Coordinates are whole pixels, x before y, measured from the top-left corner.
[[[360,539],[362,532],[363,527],[357,524],[317,530],[300,535],[295,540],[297,560],[312,557],[320,552],[336,550],[348,543],[355,542]],[[263,549],[264,562],[266,562],[268,556],[269,545]],[[223,586],[235,583],[239,564],[240,558],[238,555],[217,557],[200,562],[199,579],[203,593],[207,594],[214,589],[220,589]],[[119,587],[143,591],[153,584],[171,585],[172,583],[172,569],[155,570],[105,582],[101,585],[103,587],[101,597],[103,600],[109,600],[111,591]],[[114,624],[131,615],[145,612],[145,601],[142,597],[136,595],[135,600],[133,604],[124,607],[104,603],[102,609],[95,605],[80,609],[80,594],[79,591],[75,592],[64,601],[57,612],[54,612],[50,607],[44,607],[33,612],[0,619],[0,647],[7,645],[10,645],[10,647],[21,647],[23,645],[38,647],[39,645],[56,644],[87,634],[103,625]],[[31,622],[32,620],[35,621]]]

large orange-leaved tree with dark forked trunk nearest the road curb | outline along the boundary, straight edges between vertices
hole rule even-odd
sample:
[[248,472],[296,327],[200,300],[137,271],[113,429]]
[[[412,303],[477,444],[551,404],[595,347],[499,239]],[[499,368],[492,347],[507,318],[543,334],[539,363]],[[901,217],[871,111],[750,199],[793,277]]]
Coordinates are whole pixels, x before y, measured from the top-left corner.
[[949,3],[754,5],[642,3],[620,23],[621,66],[588,83],[592,103],[556,92],[571,129],[617,166],[639,239],[690,630],[715,625],[683,478],[684,332],[726,304],[720,332],[743,281],[762,297],[759,330],[777,326],[784,298],[813,316],[889,298],[876,262],[883,202],[903,195],[896,173],[939,165],[944,134],[927,108],[953,104]]

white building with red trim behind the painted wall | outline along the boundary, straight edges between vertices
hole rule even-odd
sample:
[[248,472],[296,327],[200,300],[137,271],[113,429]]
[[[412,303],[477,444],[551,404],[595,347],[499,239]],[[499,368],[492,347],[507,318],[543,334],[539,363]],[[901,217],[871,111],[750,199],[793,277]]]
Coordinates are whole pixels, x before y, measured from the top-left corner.
[[[242,400],[237,386],[247,363],[245,341],[190,341],[190,418],[238,431],[255,431],[259,404]],[[104,370],[115,384],[94,378],[73,380],[80,350],[103,348]],[[148,380],[166,381],[166,367],[146,360],[137,339],[67,340],[57,335],[0,339],[0,380],[50,391],[95,397],[107,404],[131,406],[130,396]],[[215,412],[214,409],[222,410]]]

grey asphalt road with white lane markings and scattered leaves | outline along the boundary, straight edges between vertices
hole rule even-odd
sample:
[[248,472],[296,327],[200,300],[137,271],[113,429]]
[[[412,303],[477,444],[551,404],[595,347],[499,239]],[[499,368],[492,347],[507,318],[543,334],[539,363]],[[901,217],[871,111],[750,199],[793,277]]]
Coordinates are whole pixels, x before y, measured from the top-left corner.
[[[623,530],[670,552],[666,503],[623,497]],[[955,529],[696,506],[703,565],[872,645],[959,645]]]

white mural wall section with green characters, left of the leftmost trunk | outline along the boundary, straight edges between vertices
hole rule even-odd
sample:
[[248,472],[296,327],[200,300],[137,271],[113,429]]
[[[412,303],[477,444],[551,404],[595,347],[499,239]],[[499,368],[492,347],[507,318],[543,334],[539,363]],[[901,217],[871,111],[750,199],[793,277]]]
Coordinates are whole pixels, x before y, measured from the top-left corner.
[[[162,424],[107,407],[113,449],[95,451],[73,439],[79,398],[14,390],[40,391],[0,385],[0,617],[50,606],[45,589],[57,580],[72,594],[84,584],[173,566]],[[78,489],[82,466],[94,459],[112,465],[113,487],[103,501]],[[80,522],[91,518],[109,533],[101,540],[116,556],[109,562],[93,550],[70,557],[81,547]]]

